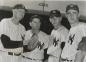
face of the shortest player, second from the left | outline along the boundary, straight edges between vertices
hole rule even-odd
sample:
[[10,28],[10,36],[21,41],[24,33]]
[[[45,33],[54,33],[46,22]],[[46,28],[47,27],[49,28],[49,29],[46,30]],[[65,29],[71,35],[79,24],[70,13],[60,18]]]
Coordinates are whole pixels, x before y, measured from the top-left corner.
[[39,30],[40,29],[40,25],[41,25],[41,22],[40,22],[39,18],[34,18],[30,22],[30,26],[32,27],[32,29]]

